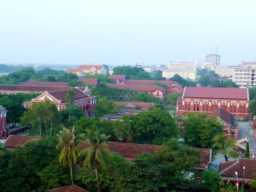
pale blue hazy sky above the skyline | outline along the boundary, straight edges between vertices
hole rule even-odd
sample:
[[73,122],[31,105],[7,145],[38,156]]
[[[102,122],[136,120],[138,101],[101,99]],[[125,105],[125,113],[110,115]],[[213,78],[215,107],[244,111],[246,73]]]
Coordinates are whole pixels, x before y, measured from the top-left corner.
[[0,1],[0,63],[256,60],[254,0]]

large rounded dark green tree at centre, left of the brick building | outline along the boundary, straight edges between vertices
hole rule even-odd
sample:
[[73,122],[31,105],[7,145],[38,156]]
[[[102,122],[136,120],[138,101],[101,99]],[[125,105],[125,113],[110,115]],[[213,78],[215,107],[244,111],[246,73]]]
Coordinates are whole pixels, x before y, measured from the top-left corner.
[[177,137],[178,129],[172,116],[160,108],[139,113],[134,117],[133,130],[136,140],[161,144]]

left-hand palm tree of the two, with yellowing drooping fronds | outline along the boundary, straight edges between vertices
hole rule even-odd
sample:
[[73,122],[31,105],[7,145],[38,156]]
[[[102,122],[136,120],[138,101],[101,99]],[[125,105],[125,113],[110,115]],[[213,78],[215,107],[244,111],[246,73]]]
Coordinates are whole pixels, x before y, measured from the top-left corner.
[[84,134],[75,136],[74,127],[71,131],[66,127],[63,127],[63,131],[60,131],[59,134],[57,134],[57,148],[61,149],[58,160],[59,163],[69,165],[72,184],[74,184],[72,168],[77,163],[78,157],[81,155],[78,145],[83,142],[83,136]]

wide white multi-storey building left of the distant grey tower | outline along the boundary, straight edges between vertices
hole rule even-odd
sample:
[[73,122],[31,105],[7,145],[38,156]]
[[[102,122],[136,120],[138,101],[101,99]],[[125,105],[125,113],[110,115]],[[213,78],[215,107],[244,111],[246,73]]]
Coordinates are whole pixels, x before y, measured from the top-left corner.
[[169,62],[168,69],[162,71],[162,76],[171,78],[175,74],[178,74],[184,79],[195,81],[197,76],[197,64],[198,59],[194,59],[193,62]]

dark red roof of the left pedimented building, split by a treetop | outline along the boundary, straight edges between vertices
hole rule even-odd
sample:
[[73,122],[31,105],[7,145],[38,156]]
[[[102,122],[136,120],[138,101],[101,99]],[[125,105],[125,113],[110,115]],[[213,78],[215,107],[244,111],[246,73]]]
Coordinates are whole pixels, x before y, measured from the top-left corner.
[[[80,89],[72,89],[72,91],[74,92],[74,101],[88,97],[88,95],[83,93]],[[55,97],[56,99],[60,100],[61,103],[64,103],[67,92],[68,90],[62,90],[49,92],[49,94]]]

